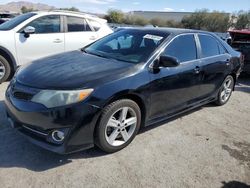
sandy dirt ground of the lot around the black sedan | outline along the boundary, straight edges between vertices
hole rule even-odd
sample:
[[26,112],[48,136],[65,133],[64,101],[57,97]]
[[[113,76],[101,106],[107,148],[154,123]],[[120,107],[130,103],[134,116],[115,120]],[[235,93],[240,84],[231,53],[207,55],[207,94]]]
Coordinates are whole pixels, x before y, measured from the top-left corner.
[[250,187],[250,78],[230,102],[144,129],[126,149],[60,156],[9,127],[0,85],[1,187]]

